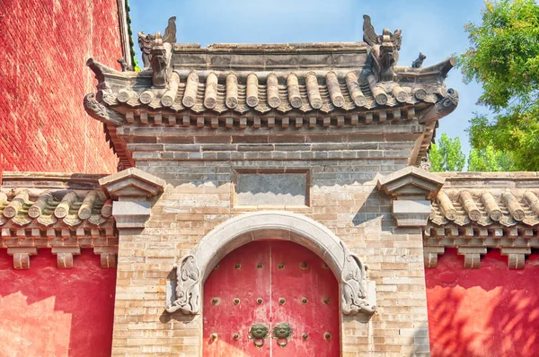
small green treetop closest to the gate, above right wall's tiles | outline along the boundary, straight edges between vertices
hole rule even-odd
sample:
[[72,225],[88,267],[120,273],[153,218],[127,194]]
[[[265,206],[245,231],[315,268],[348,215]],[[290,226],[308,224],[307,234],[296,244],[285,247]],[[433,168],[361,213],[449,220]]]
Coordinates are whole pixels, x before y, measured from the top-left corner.
[[437,144],[430,145],[429,160],[433,172],[463,170],[466,156],[461,149],[460,139],[450,139],[445,133],[442,134]]

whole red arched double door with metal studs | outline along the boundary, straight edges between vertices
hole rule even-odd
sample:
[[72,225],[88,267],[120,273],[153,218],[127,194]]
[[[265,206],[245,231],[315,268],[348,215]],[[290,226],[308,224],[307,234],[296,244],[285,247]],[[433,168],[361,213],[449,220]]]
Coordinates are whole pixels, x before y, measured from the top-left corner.
[[[309,249],[249,243],[223,258],[204,284],[204,356],[339,356],[338,297],[331,269]],[[268,337],[250,338],[253,324],[264,324]],[[272,336],[275,327],[282,338]],[[284,337],[287,327],[292,333]]]

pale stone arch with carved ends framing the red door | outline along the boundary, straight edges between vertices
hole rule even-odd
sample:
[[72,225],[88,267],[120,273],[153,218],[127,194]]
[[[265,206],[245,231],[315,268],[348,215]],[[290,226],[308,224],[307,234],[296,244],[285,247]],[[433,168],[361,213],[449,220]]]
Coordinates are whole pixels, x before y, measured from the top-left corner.
[[213,267],[235,248],[269,238],[294,241],[312,250],[330,266],[340,283],[344,314],[375,312],[373,282],[367,283],[366,268],[359,257],[321,223],[284,211],[242,214],[210,231],[174,266],[176,277],[167,289],[167,312],[181,310],[184,314],[198,314],[202,286]]

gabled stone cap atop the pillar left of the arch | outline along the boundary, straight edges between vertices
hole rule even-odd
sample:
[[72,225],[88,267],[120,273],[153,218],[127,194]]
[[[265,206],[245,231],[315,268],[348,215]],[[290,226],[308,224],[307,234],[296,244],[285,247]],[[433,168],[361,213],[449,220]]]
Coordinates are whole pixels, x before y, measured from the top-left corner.
[[143,170],[130,168],[100,179],[99,184],[112,199],[118,199],[157,196],[163,192],[165,182]]

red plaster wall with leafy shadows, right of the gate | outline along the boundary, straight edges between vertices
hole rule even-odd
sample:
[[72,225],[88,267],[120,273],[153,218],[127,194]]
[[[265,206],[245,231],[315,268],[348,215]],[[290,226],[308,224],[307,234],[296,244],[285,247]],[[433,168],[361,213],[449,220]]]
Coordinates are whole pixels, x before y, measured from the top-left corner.
[[539,356],[539,256],[509,270],[498,249],[479,269],[446,249],[425,269],[432,356]]

